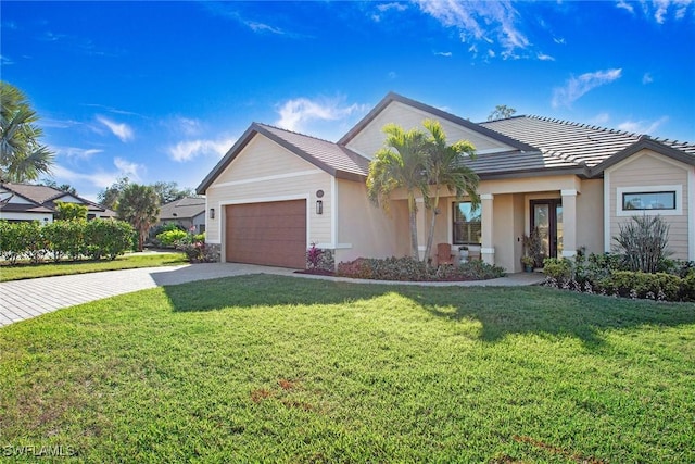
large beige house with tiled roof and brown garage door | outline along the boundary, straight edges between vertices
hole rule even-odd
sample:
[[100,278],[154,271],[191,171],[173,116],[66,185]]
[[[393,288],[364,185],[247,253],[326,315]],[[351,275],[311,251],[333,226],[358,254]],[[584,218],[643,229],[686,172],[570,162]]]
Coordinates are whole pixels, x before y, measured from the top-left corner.
[[[481,206],[444,198],[437,242],[467,246],[489,263],[522,269],[522,237],[538,226],[545,254],[610,251],[634,214],[670,224],[673,258],[695,260],[695,145],[538,116],[475,124],[389,93],[333,143],[253,123],[198,187],[207,242],[222,261],[303,268],[311,243],[336,263],[409,253],[405,196],[390,214],[367,200],[365,179],[382,127],[438,120],[450,140],[470,140]],[[420,202],[425,251],[428,213]],[[437,248],[437,247],[434,247]],[[433,252],[434,253],[434,252]]]

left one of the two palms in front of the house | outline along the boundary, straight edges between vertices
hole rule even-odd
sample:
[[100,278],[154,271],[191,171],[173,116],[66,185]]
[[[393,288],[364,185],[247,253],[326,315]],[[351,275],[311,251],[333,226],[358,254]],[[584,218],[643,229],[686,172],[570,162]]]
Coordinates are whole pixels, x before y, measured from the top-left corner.
[[427,190],[427,179],[424,176],[427,137],[419,129],[405,131],[395,124],[387,124],[382,130],[387,139],[384,147],[375,153],[369,163],[367,196],[374,204],[380,205],[388,213],[391,193],[399,188],[405,189],[408,200],[410,254],[419,260],[415,196],[418,190]]

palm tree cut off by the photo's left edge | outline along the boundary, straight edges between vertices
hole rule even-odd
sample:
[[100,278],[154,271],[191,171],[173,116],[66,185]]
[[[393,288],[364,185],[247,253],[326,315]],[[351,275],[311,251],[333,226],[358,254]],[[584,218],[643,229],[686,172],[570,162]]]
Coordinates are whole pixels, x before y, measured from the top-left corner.
[[27,98],[11,84],[0,81],[0,180],[22,183],[50,174],[54,155],[38,139],[38,116]]

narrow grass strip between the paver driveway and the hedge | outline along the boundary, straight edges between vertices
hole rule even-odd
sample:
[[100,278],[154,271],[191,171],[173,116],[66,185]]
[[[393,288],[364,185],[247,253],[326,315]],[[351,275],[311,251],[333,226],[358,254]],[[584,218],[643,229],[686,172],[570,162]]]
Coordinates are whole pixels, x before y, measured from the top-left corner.
[[18,264],[0,266],[0,281],[21,280],[38,277],[65,276],[97,273],[100,271],[132,269],[136,267],[159,267],[188,264],[184,253],[128,253],[113,261],[76,261],[65,263]]

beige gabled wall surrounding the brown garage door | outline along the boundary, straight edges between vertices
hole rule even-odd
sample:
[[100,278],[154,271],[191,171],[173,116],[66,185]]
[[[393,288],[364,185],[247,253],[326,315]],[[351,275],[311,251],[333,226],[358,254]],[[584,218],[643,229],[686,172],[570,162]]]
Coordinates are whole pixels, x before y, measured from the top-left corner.
[[[256,135],[220,173],[206,193],[206,241],[223,244],[225,205],[282,200],[307,200],[307,247],[311,242],[331,243],[331,176],[267,138]],[[324,214],[316,214],[317,190]]]

